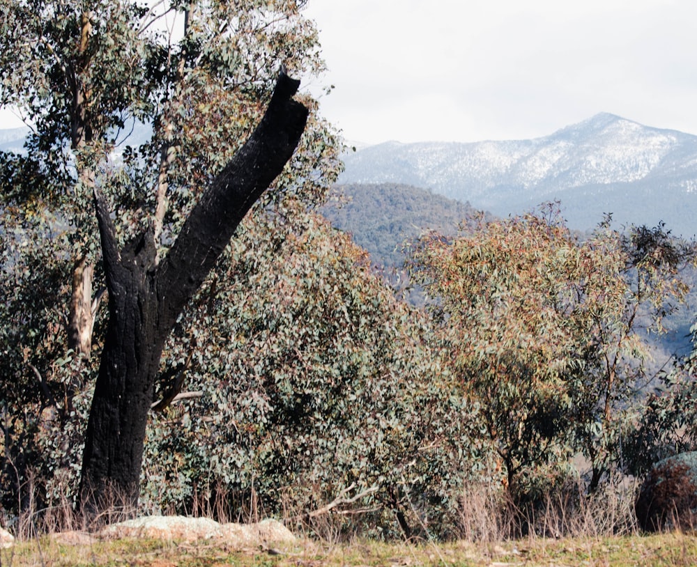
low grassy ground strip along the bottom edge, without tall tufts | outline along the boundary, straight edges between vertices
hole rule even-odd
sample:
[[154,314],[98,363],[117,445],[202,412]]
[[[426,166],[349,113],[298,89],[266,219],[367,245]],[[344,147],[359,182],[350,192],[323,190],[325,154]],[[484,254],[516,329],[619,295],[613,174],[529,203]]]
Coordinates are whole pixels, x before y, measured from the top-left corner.
[[491,544],[406,544],[298,540],[264,549],[230,549],[224,541],[143,539],[77,541],[45,537],[0,552],[1,566],[694,566],[697,534],[622,538],[535,538]]

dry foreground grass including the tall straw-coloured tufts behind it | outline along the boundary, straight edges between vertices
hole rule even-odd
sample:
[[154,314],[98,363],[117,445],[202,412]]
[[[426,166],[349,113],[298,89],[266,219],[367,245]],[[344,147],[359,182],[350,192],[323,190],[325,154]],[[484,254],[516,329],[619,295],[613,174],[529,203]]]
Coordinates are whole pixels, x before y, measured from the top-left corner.
[[[697,534],[645,536],[638,531],[633,511],[635,493],[634,486],[626,483],[607,486],[593,496],[585,495],[580,485],[568,486],[543,506],[523,513],[491,488],[471,486],[460,499],[454,522],[459,533],[457,541],[451,543],[378,542],[361,537],[364,532],[358,528],[347,530],[345,516],[327,514],[298,524],[298,515],[288,511],[286,520],[298,540],[266,550],[240,549],[230,542],[212,540],[102,540],[86,533],[85,522],[75,517],[66,500],[61,506],[15,519],[12,531],[17,543],[0,551],[0,566],[697,564]],[[201,505],[192,512],[220,513],[222,502],[215,499],[209,502],[214,506]],[[244,519],[259,519],[262,512],[251,499]],[[525,536],[521,535],[523,525],[530,528]]]

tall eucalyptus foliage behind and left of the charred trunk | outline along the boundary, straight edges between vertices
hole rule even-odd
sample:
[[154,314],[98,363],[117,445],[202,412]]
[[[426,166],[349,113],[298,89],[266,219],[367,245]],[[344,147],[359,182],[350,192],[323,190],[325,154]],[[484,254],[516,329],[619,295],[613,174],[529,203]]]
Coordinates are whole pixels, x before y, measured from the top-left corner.
[[[66,340],[80,258],[94,270],[93,281],[77,284],[93,292],[95,352],[105,323],[92,187],[112,204],[121,242],[153,227],[164,254],[201,189],[258,123],[280,66],[303,77],[323,69],[316,29],[301,8],[266,0],[152,9],[128,1],[0,2],[0,105],[17,105],[33,123],[24,155],[0,154],[8,510],[20,511],[22,495],[52,504],[52,495],[75,486],[98,362]],[[176,22],[173,35],[165,21]],[[275,243],[302,232],[305,210],[323,202],[340,169],[337,134],[303,98],[312,116],[300,147],[254,211]],[[134,128],[151,134],[136,143]],[[256,235],[245,234],[237,245],[253,249]],[[263,272],[268,261],[277,258],[254,269]],[[211,281],[224,282],[224,297],[236,283],[221,270]],[[225,336],[222,321],[218,337]],[[178,350],[206,356],[173,340],[164,378]]]

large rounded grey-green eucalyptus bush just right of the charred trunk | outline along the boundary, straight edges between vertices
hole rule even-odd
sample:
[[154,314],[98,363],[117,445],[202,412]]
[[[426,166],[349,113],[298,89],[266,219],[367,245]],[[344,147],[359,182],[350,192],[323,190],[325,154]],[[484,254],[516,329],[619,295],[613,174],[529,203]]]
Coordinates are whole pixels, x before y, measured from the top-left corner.
[[300,514],[354,487],[348,497],[368,490],[354,506],[381,529],[393,529],[390,511],[442,523],[474,474],[463,465],[477,453],[476,407],[451,395],[427,327],[365,251],[308,222],[283,242],[246,224],[256,247],[233,247],[224,262],[235,285],[217,300],[201,290],[187,313],[182,330],[205,353],[187,386],[203,397],[155,421],[146,493],[181,511],[217,488],[233,510],[254,500]]

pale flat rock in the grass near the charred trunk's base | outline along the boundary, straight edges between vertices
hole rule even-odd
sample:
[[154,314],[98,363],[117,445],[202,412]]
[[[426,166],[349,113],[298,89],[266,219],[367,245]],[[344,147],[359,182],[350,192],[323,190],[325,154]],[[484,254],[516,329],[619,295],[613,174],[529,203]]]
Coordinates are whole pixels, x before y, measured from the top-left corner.
[[162,540],[197,541],[222,539],[233,547],[268,547],[270,543],[291,543],[295,536],[277,520],[256,524],[219,524],[208,518],[184,516],[145,516],[112,524],[99,532],[102,538],[154,538]]

